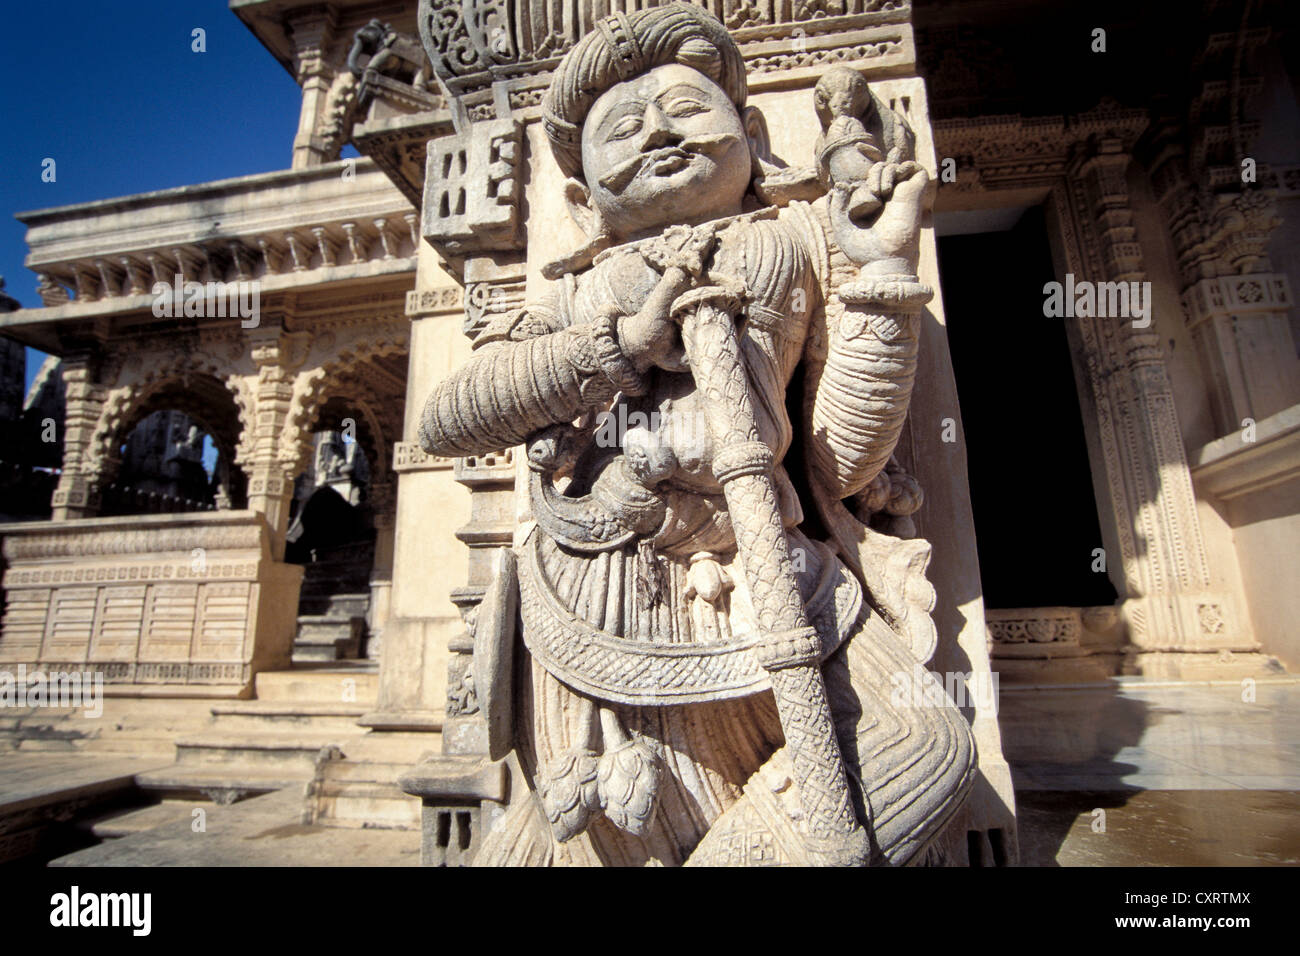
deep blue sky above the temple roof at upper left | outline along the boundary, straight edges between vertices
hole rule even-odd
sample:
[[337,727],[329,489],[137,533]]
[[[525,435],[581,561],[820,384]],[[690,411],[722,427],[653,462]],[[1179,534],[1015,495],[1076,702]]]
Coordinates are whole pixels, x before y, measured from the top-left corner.
[[0,65],[0,276],[25,307],[40,298],[14,212],[290,164],[298,85],[224,0],[8,3]]

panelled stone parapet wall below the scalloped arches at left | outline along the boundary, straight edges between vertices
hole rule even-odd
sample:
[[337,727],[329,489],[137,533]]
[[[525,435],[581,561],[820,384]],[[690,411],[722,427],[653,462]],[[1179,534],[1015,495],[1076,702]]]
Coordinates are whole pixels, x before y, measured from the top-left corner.
[[254,511],[3,524],[0,669],[238,695],[289,665],[303,570]]

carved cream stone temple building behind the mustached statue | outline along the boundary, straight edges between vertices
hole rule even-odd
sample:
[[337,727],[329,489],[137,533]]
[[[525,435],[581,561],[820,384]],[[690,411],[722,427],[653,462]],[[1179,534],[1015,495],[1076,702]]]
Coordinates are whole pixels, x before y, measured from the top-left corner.
[[[150,753],[162,796],[307,782],[308,822],[472,860],[520,790],[474,632],[514,614],[529,471],[432,455],[420,416],[582,243],[542,122],[560,57],[655,5],[235,0],[302,87],[289,168],[18,213],[43,304],[0,333],[57,364],[48,414],[5,394],[5,481],[49,498],[0,525],[0,669],[101,672],[107,701],[0,747]],[[1158,38],[1119,3],[697,5],[780,166],[811,163],[831,66],[915,134],[935,295],[896,451],[924,501],[896,520],[932,544],[927,666],[979,753],[945,858],[1014,861],[1035,688],[1300,667],[1284,4]]]

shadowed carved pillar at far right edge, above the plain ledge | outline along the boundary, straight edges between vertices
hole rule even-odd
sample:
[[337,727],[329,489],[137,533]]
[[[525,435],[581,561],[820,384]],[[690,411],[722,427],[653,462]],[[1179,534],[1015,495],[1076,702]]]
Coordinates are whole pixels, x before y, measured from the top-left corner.
[[1223,436],[1300,402],[1300,360],[1287,278],[1268,259],[1282,222],[1265,185],[1274,177],[1256,159],[1264,117],[1253,100],[1265,88],[1256,53],[1271,40],[1271,17],[1266,5],[1204,8],[1187,112],[1160,129],[1148,165]]

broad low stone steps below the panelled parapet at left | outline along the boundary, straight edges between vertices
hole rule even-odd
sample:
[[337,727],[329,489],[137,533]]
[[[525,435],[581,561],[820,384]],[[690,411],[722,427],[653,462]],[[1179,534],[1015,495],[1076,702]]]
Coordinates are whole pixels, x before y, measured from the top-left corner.
[[[420,801],[398,779],[441,752],[441,732],[360,726],[377,697],[372,662],[299,665],[259,674],[252,700],[108,698],[98,719],[48,709],[6,714],[0,750],[40,783],[35,790],[49,819],[29,830],[62,834],[62,852],[121,838],[148,842],[186,830],[204,806],[274,791],[299,808],[295,825],[419,830]],[[103,765],[108,777],[96,777],[90,790],[73,787],[69,761],[88,761],[83,775]],[[49,770],[42,771],[46,763]],[[124,771],[130,763],[138,769]],[[6,858],[3,803],[0,861]]]

